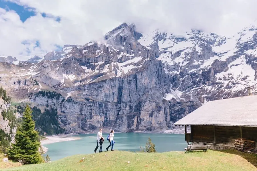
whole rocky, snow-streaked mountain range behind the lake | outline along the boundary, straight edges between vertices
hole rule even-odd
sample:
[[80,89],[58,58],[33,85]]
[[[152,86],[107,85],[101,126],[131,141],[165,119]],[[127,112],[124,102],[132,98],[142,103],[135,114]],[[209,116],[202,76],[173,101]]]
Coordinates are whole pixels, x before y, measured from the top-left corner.
[[[103,37],[31,63],[1,63],[0,77],[15,98],[30,94],[32,102],[56,106],[67,132],[167,129],[209,100],[256,89],[253,24],[226,38],[200,30],[142,34],[124,23]],[[38,90],[64,98],[31,95]]]

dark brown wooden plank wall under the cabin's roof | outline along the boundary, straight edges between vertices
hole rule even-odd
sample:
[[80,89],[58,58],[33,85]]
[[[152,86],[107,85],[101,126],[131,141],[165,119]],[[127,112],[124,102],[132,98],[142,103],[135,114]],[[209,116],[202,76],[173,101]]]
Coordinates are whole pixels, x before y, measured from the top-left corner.
[[[241,138],[240,127],[191,125],[192,141],[214,143],[214,132],[216,143],[234,144]],[[242,138],[257,142],[257,127],[242,127]]]

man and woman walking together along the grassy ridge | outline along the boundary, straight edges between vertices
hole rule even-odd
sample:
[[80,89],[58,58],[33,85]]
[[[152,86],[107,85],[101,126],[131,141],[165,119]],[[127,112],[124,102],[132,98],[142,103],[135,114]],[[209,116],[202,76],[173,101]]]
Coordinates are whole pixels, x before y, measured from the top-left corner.
[[[95,153],[100,145],[100,149],[99,149],[99,153],[103,152],[102,148],[103,148],[103,141],[104,138],[102,136],[102,132],[103,129],[100,129],[100,131],[97,133],[97,146],[95,147]],[[113,145],[114,145],[114,141],[113,141],[113,137],[114,137],[114,130],[111,130],[110,134],[107,136],[107,140],[110,142],[110,145],[106,148],[106,150],[108,151],[109,147],[112,146],[111,151],[113,151]],[[99,143],[99,145],[98,145]]]

